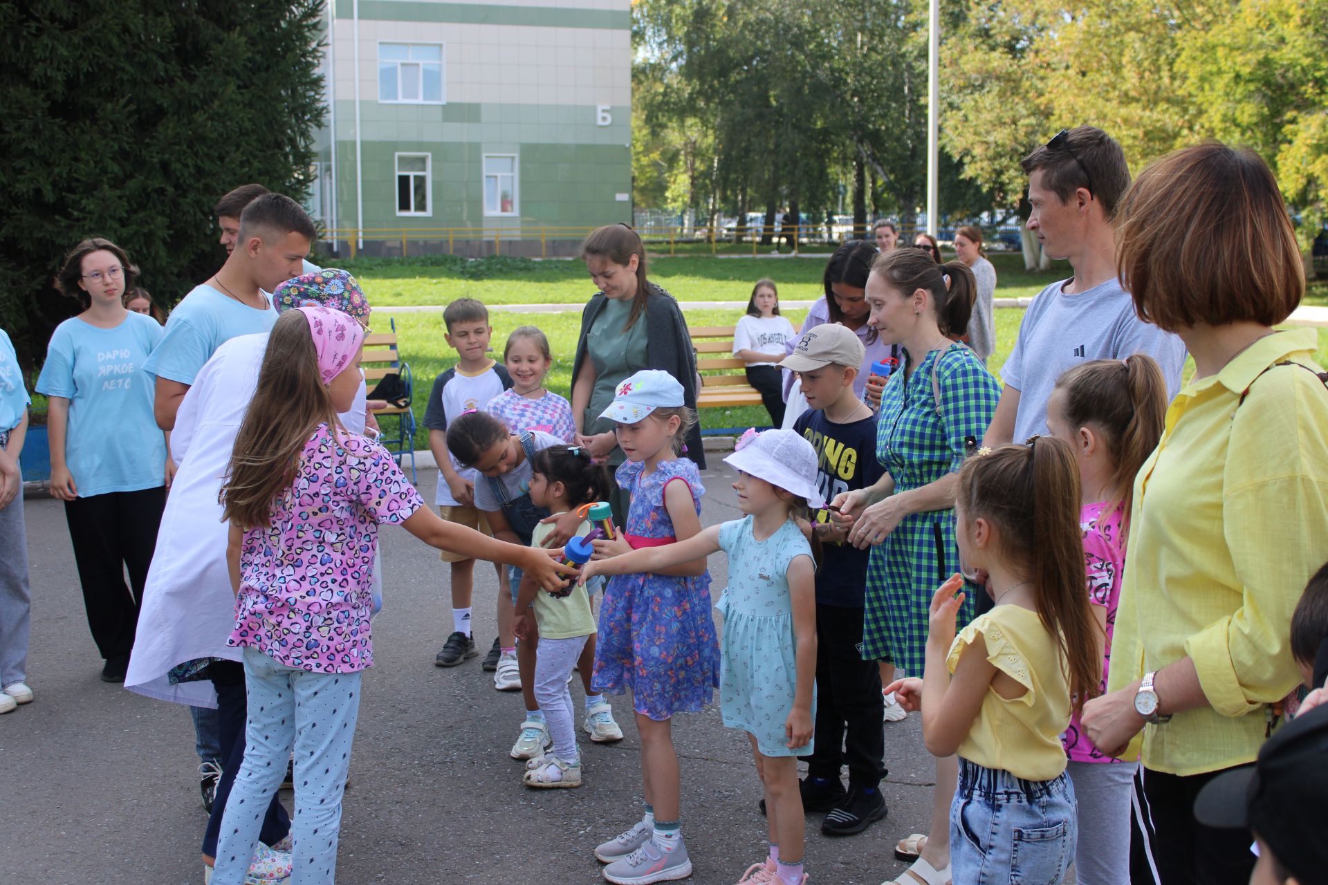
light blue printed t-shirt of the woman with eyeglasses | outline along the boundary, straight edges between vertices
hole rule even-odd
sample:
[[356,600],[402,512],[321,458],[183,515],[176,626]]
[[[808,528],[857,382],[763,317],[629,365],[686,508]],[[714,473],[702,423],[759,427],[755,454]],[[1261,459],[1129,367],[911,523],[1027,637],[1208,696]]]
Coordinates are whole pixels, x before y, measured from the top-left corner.
[[162,334],[157,320],[129,312],[114,329],[73,317],[50,336],[37,393],[69,399],[65,464],[80,498],[165,484],[166,438],[143,369]]

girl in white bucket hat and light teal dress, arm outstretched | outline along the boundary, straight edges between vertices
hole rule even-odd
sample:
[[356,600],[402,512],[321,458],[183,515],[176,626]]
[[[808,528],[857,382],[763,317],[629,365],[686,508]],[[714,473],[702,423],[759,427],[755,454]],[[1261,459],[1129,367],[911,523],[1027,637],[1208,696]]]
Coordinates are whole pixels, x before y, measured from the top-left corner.
[[[815,718],[815,555],[809,543],[809,506],[825,500],[817,487],[817,455],[791,430],[749,430],[724,459],[737,468],[733,488],[746,517],[712,525],[688,540],[591,561],[594,575],[657,572],[724,551],[729,585],[724,614],[720,703],[724,724],[752,742],[765,785],[769,856],[742,882],[801,885],[803,815],[797,758],[811,752]],[[607,608],[607,604],[606,604]],[[610,881],[618,881],[608,876]],[[653,880],[652,880],[653,881]]]

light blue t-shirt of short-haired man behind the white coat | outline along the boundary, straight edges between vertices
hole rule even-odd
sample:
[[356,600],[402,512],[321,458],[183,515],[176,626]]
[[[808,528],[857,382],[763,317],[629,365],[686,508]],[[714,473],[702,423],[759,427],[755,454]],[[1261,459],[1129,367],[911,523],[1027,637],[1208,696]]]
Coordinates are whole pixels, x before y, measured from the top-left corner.
[[219,346],[242,334],[271,332],[275,322],[271,299],[267,309],[259,310],[210,285],[195,285],[170,312],[166,337],[143,369],[158,378],[193,385]]

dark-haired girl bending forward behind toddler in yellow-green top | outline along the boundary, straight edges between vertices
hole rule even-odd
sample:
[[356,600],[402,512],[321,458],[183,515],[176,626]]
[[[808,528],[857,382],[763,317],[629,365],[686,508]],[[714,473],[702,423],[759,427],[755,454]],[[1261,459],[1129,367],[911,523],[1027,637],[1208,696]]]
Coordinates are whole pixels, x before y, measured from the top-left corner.
[[[448,427],[448,448],[466,467],[474,467],[483,475],[483,482],[475,483],[475,510],[483,511],[494,537],[513,544],[530,545],[535,525],[548,517],[548,510],[537,507],[530,500],[530,459],[543,448],[560,446],[563,441],[542,430],[526,430],[519,434],[507,431],[507,426],[485,411],[467,411]],[[546,540],[550,548],[559,548],[572,537],[582,523],[582,516],[564,513],[556,521]],[[511,569],[511,601],[517,605],[521,588],[521,569]],[[513,759],[534,759],[548,746],[548,727],[544,714],[535,699],[535,649],[539,636],[531,636],[511,649],[502,649],[498,670],[515,665],[521,677],[517,687],[526,702],[526,718],[521,723],[521,734],[513,744]],[[600,701],[591,690],[590,679],[595,665],[595,651],[583,653],[578,661],[587,698]]]

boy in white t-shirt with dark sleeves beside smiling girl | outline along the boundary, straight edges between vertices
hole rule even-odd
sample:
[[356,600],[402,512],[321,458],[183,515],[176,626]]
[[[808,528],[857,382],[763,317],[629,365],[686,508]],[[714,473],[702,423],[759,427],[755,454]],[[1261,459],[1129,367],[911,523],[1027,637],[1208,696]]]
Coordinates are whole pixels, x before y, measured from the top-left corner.
[[[507,369],[489,357],[489,338],[493,326],[489,325],[489,309],[475,299],[457,299],[442,312],[448,326],[448,344],[456,348],[461,360],[434,378],[429,393],[429,405],[424,413],[424,426],[429,429],[429,448],[438,464],[438,491],[434,504],[438,515],[449,523],[477,528],[490,533],[483,513],[475,510],[475,479],[479,474],[462,467],[448,450],[448,425],[465,411],[483,409],[485,405],[511,387]],[[475,560],[457,553],[441,553],[444,563],[452,563],[452,621],[453,632],[442,650],[434,657],[434,665],[452,667],[475,657],[475,641],[470,630],[471,594],[474,592]],[[506,569],[498,568],[498,606],[511,610]],[[499,616],[502,612],[499,612]],[[510,617],[510,616],[509,616]],[[498,666],[499,642],[494,640],[489,655],[483,661],[485,670]],[[519,677],[510,685],[494,682],[499,691],[521,689]]]

